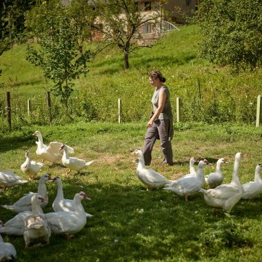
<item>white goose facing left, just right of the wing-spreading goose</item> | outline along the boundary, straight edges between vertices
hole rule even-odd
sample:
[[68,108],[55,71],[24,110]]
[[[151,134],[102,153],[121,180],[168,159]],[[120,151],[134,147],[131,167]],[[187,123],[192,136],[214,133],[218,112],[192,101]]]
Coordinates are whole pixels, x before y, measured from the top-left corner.
[[66,168],[69,168],[69,171],[66,172],[68,174],[71,172],[71,170],[79,172],[83,168],[87,167],[88,165],[91,165],[94,163],[94,160],[85,162],[83,159],[77,159],[77,157],[68,157],[68,153],[73,153],[74,150],[70,148],[68,145],[61,145],[59,150],[63,150],[63,157],[62,157],[62,163],[66,166]]

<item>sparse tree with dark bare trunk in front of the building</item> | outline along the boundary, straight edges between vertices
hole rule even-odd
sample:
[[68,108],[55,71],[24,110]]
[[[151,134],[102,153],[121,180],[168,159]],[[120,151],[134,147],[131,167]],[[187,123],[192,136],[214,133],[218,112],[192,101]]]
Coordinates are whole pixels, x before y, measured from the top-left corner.
[[138,12],[137,1],[110,0],[93,1],[97,10],[97,24],[89,24],[94,30],[103,34],[103,43],[107,46],[117,46],[123,52],[125,69],[129,68],[129,55],[135,50],[150,47],[145,41],[139,28],[146,23],[160,23],[160,6],[148,16]]

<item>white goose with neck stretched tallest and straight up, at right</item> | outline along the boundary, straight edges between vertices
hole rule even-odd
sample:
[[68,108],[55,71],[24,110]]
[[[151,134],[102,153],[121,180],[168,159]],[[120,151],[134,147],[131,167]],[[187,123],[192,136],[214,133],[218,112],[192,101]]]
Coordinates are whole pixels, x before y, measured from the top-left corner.
[[216,188],[205,190],[200,188],[203,192],[205,202],[214,208],[222,208],[225,212],[230,213],[234,205],[243,196],[243,186],[239,181],[239,165],[242,159],[240,152],[236,153],[234,158],[234,170],[232,174],[231,183],[219,185]]

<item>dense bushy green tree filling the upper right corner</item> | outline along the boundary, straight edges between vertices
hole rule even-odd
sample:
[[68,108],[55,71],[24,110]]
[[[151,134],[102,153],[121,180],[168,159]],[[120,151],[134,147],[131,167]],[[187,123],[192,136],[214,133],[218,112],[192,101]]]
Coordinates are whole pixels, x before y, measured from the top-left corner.
[[197,19],[203,57],[236,70],[261,66],[261,0],[202,0]]

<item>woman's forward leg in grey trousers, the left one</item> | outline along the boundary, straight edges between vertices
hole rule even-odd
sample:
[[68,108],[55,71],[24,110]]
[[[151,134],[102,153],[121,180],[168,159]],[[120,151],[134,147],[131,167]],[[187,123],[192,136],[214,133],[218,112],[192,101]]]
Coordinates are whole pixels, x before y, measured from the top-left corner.
[[152,159],[152,149],[155,141],[159,137],[159,130],[157,124],[153,123],[151,128],[145,133],[145,141],[143,143],[143,158],[145,160],[145,165],[150,165]]

